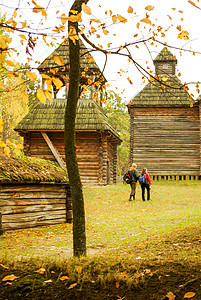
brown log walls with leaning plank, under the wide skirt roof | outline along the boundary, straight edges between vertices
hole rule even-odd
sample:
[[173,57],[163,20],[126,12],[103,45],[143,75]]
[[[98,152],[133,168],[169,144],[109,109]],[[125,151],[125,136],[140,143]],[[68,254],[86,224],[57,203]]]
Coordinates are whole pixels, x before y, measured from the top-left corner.
[[[64,133],[47,132],[47,135],[65,161]],[[25,136],[24,144],[26,155],[55,161],[54,155],[40,132],[28,133]],[[78,167],[84,186],[113,183],[116,147],[107,137],[106,132],[83,131],[76,133]],[[108,160],[109,180],[107,180]]]

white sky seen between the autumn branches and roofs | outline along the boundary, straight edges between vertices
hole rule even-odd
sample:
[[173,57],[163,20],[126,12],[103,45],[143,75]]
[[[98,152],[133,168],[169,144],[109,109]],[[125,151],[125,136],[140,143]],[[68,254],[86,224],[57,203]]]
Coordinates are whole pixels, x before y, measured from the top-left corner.
[[[60,16],[61,13],[64,12],[66,15],[68,15],[68,11],[71,7],[71,4],[73,3],[73,0],[36,0],[39,5],[48,8],[48,19],[44,22],[44,25],[42,25],[41,14],[32,14],[31,6],[28,6],[26,2],[27,1],[25,0],[0,0],[0,8],[3,11],[7,12],[7,16],[9,18],[13,13],[13,8],[19,7],[20,9],[18,15],[22,15],[21,20],[28,19],[28,22],[32,26],[32,28],[39,29],[43,26],[44,32],[47,32],[48,30],[46,28],[53,27],[54,25],[56,25],[56,23],[57,25],[59,24],[58,16]],[[198,0],[194,0],[194,3],[197,6],[201,7],[201,2],[199,2]],[[154,10],[147,12],[150,15],[150,20],[152,21],[152,23],[161,25],[164,28],[169,27],[171,24],[174,25],[167,33],[165,33],[166,36],[164,38],[161,38],[159,35],[157,37],[158,40],[167,42],[167,44],[171,46],[201,52],[201,10],[192,6],[188,2],[188,0],[89,0],[88,5],[92,10],[93,16],[88,16],[86,14],[83,15],[83,24],[85,25],[85,28],[90,28],[90,18],[98,18],[102,23],[107,24],[106,29],[109,31],[108,35],[101,34],[100,39],[95,38],[95,36],[90,37],[90,39],[92,39],[95,44],[99,43],[107,48],[108,43],[112,43],[110,47],[113,48],[118,47],[120,44],[123,45],[125,42],[134,42],[139,38],[149,37],[150,26],[146,25],[146,28],[144,28],[144,25],[142,25],[141,23],[139,31],[136,28],[136,24],[142,18],[145,18],[145,6],[152,5],[154,6]],[[127,9],[129,6],[133,7],[134,11],[136,11],[136,14],[127,13]],[[176,10],[172,10],[172,8],[176,8]],[[60,10],[60,13],[56,15],[57,10]],[[105,10],[107,10],[108,12],[109,10],[112,10],[113,14],[120,14],[121,16],[125,17],[128,22],[125,24],[113,24],[109,13],[106,15]],[[183,13],[180,13],[178,11],[183,11]],[[170,15],[172,17],[172,21],[170,21],[167,15]],[[155,20],[156,18],[157,21]],[[184,20],[182,21],[181,18],[183,18]],[[185,41],[183,39],[181,40],[177,38],[179,31],[175,29],[176,25],[181,25],[182,30],[186,30],[189,32],[189,40]],[[93,23],[93,26],[95,27],[95,23]],[[156,27],[157,25],[155,26],[155,28]],[[136,33],[138,33],[137,38],[134,37]],[[116,34],[116,36],[114,36],[113,34]],[[67,30],[60,35],[57,34],[56,41],[54,41],[54,43],[59,43],[61,41],[60,37],[62,35],[67,36]],[[18,51],[20,52],[18,60],[25,62],[26,55],[23,50],[24,46],[22,48],[16,38],[13,39],[13,46],[17,46]],[[149,66],[154,70],[151,56],[152,58],[155,58],[163,47],[163,45],[158,45],[157,47],[149,45],[148,50],[146,46],[142,44],[139,49],[135,48],[134,46],[130,47],[129,49],[133,55],[133,58],[139,64],[146,68],[147,61],[149,63]],[[34,64],[34,61],[42,62],[51,52],[53,52],[53,50],[54,47],[47,48],[44,44],[39,43],[34,50],[32,56],[33,62],[31,63],[31,65],[36,67],[37,65]],[[201,54],[196,54],[195,56],[193,56],[190,53],[184,53],[182,56],[180,56],[179,50],[170,50],[177,57],[177,69],[178,72],[181,73],[181,81],[201,81]],[[105,63],[104,55],[96,52],[93,53],[93,57],[99,65],[100,69],[102,69]],[[127,73],[119,76],[118,71],[120,69],[123,69],[124,72]],[[136,68],[131,63],[128,63],[127,59],[122,59],[118,55],[109,55],[107,65],[104,70],[104,75],[110,83],[110,89],[118,92],[126,102],[128,102],[145,85],[144,83],[142,83],[142,75],[136,70]],[[132,80],[133,85],[129,84],[127,77]],[[194,94],[196,99],[198,94],[195,91],[194,85],[190,85],[189,88],[190,92]],[[123,90],[125,91],[122,94],[121,92]]]

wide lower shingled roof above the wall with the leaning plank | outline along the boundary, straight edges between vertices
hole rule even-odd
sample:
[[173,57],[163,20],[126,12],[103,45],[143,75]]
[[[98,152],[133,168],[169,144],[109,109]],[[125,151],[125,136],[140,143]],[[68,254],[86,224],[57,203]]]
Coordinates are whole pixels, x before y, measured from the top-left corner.
[[[65,100],[37,104],[16,126],[16,131],[64,131]],[[92,99],[79,99],[75,121],[76,131],[110,131],[119,141],[119,134],[102,108]]]

